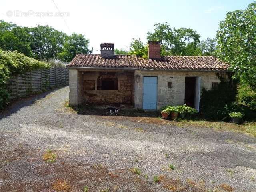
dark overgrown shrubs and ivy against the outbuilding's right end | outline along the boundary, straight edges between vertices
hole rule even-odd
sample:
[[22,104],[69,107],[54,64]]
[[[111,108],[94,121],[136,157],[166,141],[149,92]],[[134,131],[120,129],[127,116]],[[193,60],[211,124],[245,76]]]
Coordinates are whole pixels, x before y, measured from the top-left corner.
[[[220,83],[211,90],[202,88],[201,112],[208,120],[229,121],[233,112],[244,114],[244,120],[255,120],[255,98],[253,91],[237,86],[235,80],[220,77]],[[238,90],[237,90],[238,87]],[[250,96],[249,96],[250,94]],[[250,102],[245,102],[250,97]]]

